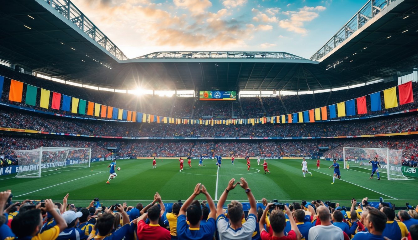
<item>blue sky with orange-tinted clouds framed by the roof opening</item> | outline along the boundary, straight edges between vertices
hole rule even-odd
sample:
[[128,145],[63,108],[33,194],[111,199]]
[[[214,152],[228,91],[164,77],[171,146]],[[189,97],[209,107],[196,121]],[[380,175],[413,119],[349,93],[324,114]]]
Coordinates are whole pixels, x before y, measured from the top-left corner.
[[309,58],[367,0],[73,0],[129,58],[270,51]]

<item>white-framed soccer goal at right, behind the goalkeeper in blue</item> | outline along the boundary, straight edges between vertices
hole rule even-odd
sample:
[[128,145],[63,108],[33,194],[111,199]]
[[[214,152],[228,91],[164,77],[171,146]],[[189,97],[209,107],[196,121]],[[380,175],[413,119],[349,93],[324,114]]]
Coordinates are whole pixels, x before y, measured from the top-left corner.
[[407,180],[402,173],[402,150],[389,148],[344,148],[344,168],[353,167],[372,170],[369,163],[377,157],[382,168],[380,173],[387,173],[388,180]]

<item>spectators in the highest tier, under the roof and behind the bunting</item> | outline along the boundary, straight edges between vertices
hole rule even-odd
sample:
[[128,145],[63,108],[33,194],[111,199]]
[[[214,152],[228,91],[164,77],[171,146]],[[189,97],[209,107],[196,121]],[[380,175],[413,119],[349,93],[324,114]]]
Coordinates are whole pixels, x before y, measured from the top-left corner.
[[[396,85],[396,82],[379,82],[364,87],[355,87],[347,90],[334,92],[322,92],[305,95],[281,95],[277,97],[241,97],[237,101],[199,101],[194,97],[160,97],[158,95],[132,95],[120,92],[98,91],[72,85],[62,86],[62,83],[37,78],[31,75],[11,71],[0,67],[0,75],[13,78],[27,84],[41,87],[51,91],[77,97],[91,102],[118,107],[125,110],[133,110],[152,115],[178,118],[254,118],[263,116],[277,116],[310,110],[315,107],[336,104],[356,97],[362,97],[373,92],[378,92]],[[372,86],[372,87],[371,87]],[[370,112],[370,98],[367,100],[368,114],[382,114],[385,112],[396,112],[400,110],[417,108],[418,83],[413,82],[414,102],[398,107],[384,109],[384,97],[381,97],[383,110]],[[3,86],[2,102],[8,101],[10,79],[5,79]],[[23,87],[23,100],[25,99],[26,85]],[[52,95],[51,95],[52,98]],[[36,106],[25,105],[23,102],[10,102],[13,105],[26,106],[37,110],[49,111],[60,114],[71,114],[62,110],[54,110],[37,107],[40,102],[40,91],[38,90]],[[50,100],[51,102],[51,100]],[[74,114],[73,114],[74,115]],[[77,115],[77,114],[76,114]],[[328,115],[329,117],[329,115]],[[348,118],[350,116],[347,116]],[[100,117],[98,117],[100,118]]]

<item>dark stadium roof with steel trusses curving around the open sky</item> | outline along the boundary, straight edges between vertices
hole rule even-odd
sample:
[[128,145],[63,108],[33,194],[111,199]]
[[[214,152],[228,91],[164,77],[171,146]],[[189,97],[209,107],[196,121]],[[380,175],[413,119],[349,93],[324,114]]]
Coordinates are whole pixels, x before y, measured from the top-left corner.
[[320,90],[411,72],[418,59],[412,47],[417,11],[416,0],[386,4],[338,46],[324,46],[320,61],[285,52],[155,52],[127,59],[71,2],[8,0],[0,8],[0,59],[103,87]]

